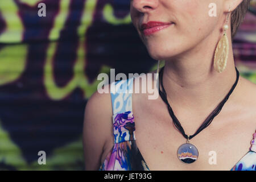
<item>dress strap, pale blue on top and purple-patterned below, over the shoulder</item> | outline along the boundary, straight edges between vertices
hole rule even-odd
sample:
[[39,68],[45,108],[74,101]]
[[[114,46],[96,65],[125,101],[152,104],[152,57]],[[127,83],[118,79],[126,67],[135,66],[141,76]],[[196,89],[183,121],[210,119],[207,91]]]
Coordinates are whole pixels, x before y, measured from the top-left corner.
[[132,108],[134,77],[111,84],[114,143],[135,140],[135,123]]

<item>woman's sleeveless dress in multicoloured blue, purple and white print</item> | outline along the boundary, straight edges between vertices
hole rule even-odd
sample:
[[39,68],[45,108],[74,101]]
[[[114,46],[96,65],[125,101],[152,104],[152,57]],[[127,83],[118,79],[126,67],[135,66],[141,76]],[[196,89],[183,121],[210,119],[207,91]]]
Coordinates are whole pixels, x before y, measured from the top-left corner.
[[[134,77],[133,77],[134,78]],[[135,122],[132,111],[133,78],[113,82],[113,134],[114,146],[100,166],[100,171],[149,171],[135,138]],[[125,91],[125,92],[124,92]],[[231,171],[256,170],[256,132],[250,151]]]

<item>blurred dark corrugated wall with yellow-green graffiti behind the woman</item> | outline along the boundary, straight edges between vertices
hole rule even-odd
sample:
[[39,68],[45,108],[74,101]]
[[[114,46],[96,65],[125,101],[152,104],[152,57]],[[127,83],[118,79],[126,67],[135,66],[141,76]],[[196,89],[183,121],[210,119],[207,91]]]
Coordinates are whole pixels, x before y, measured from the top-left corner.
[[[38,15],[39,3],[46,16]],[[0,1],[0,170],[84,169],[84,109],[98,74],[156,68],[131,24],[129,4]],[[256,83],[255,0],[233,49],[241,75]],[[38,164],[39,151],[46,165]]]

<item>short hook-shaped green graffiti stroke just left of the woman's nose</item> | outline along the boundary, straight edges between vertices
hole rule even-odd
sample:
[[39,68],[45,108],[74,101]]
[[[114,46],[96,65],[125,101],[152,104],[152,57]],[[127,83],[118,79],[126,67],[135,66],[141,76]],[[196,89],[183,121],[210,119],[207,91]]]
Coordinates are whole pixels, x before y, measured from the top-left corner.
[[129,24],[131,23],[131,16],[128,14],[125,18],[115,18],[113,7],[110,4],[106,4],[103,9],[103,16],[105,20],[114,25],[118,24]]

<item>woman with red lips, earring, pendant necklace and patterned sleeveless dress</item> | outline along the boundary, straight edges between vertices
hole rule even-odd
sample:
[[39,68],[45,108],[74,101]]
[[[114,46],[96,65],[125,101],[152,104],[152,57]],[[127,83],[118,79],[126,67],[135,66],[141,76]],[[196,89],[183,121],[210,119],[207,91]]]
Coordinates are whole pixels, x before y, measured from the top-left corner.
[[[254,170],[256,86],[239,77],[232,52],[249,2],[131,0],[148,53],[165,60],[161,97],[129,94],[131,106],[118,113],[113,94],[93,94],[85,109],[86,170]],[[210,16],[214,5],[217,16]]]

